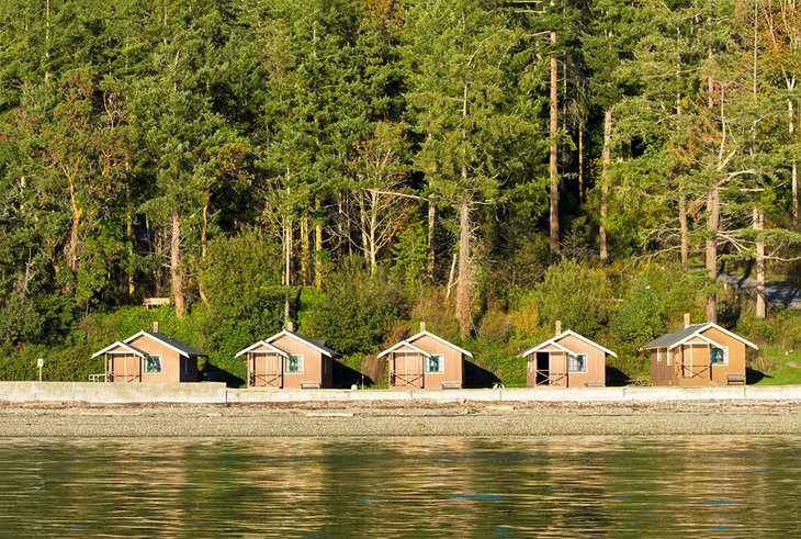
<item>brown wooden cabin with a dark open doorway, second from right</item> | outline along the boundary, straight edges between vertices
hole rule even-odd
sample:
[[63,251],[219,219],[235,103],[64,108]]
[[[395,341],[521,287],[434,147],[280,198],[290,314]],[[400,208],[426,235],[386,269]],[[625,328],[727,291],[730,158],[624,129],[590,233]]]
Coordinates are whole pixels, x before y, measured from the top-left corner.
[[522,352],[528,388],[603,388],[607,383],[607,356],[618,357],[575,332],[562,332]]

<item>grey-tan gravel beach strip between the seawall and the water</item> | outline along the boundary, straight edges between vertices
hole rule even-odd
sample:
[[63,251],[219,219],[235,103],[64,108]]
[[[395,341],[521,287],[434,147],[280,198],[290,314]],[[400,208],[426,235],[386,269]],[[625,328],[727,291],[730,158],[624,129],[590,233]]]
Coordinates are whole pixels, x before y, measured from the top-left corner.
[[801,402],[0,405],[0,436],[797,435]]

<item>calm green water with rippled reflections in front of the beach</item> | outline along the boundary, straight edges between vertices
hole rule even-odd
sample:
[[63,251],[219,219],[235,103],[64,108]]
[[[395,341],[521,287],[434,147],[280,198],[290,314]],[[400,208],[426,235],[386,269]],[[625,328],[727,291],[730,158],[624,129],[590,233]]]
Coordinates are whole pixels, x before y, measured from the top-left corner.
[[776,537],[801,437],[0,440],[2,537]]

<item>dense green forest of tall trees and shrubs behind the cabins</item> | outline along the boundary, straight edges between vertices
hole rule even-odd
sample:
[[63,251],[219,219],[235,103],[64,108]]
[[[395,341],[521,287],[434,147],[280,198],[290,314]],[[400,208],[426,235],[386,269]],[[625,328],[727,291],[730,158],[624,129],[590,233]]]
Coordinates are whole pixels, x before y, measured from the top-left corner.
[[287,321],[376,384],[420,319],[511,384],[557,319],[789,350],[800,76],[797,0],[0,0],[0,378],[151,319],[235,384]]

